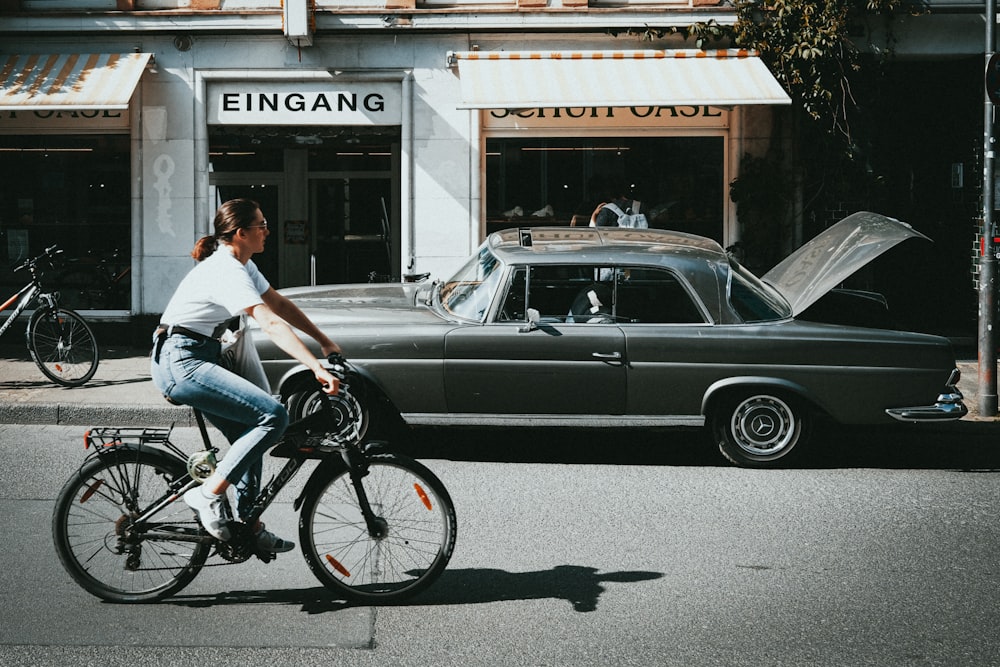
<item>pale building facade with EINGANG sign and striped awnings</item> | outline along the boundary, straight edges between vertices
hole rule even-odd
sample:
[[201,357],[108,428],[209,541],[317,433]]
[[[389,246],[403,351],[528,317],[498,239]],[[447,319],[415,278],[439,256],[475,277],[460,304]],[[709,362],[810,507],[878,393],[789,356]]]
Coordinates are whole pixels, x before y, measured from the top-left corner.
[[[789,100],[753,54],[643,36],[730,5],[394,1],[0,2],[0,282],[58,243],[68,305],[155,315],[237,196],[277,287],[442,276],[490,231],[587,224],[619,194],[740,238],[729,183]],[[982,52],[975,3],[931,5],[934,40],[894,33],[910,57]]]

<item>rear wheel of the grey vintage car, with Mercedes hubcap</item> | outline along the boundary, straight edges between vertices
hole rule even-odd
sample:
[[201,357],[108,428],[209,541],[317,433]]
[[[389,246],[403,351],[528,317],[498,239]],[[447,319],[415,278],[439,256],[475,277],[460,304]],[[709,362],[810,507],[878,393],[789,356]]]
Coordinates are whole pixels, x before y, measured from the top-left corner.
[[776,393],[731,395],[720,401],[709,424],[719,451],[738,466],[775,467],[798,453],[809,432],[799,401]]

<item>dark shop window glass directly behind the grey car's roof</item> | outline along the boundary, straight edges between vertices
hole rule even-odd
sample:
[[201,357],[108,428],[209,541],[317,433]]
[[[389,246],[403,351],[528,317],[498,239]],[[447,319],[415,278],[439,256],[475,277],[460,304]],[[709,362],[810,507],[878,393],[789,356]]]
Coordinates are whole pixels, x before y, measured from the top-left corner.
[[487,232],[589,224],[601,202],[641,202],[650,227],[723,241],[723,138],[495,138],[486,141]]

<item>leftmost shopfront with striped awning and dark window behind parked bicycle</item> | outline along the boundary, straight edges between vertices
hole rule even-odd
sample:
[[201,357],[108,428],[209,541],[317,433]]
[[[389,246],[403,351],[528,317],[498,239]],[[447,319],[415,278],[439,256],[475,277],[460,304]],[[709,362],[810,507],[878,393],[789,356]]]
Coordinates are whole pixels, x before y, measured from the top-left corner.
[[[12,269],[58,245],[46,274],[69,307],[131,310],[130,100],[148,53],[0,56],[0,289]],[[95,312],[95,315],[99,313]]]

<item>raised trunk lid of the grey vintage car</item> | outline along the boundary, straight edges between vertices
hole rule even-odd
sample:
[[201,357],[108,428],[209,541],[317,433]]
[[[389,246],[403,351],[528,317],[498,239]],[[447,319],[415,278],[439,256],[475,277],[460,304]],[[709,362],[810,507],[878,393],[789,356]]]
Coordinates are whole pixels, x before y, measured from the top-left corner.
[[781,292],[793,315],[799,315],[855,271],[914,237],[927,239],[905,222],[859,211],[786,257],[763,280]]

